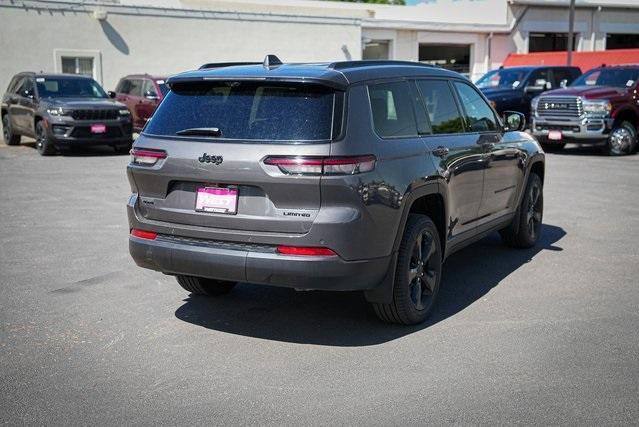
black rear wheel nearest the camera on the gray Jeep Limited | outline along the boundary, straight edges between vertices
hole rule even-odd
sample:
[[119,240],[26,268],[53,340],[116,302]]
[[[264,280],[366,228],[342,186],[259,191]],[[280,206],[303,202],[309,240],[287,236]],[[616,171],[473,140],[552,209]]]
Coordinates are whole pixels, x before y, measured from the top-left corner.
[[375,314],[389,323],[414,325],[430,315],[442,270],[439,233],[426,215],[410,214],[399,246],[393,301],[373,304]]

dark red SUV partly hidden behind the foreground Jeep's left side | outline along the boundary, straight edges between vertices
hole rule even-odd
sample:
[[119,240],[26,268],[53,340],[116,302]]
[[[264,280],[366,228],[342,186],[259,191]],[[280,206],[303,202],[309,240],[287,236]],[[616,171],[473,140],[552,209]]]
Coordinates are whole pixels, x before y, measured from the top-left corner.
[[169,91],[165,82],[166,77],[135,74],[121,78],[115,92],[109,93],[129,108],[136,132],[144,128]]

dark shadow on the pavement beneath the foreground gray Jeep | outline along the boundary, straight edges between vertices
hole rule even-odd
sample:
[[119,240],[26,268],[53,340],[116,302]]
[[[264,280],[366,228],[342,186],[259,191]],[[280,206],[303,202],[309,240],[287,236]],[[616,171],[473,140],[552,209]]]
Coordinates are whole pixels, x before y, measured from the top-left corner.
[[437,307],[418,326],[378,321],[359,292],[296,292],[250,284],[221,298],[189,296],[175,316],[208,329],[268,340],[345,347],[380,344],[459,313],[540,251],[561,251],[555,243],[565,231],[543,227],[542,238],[532,249],[507,248],[495,233],[452,255],[445,264]]

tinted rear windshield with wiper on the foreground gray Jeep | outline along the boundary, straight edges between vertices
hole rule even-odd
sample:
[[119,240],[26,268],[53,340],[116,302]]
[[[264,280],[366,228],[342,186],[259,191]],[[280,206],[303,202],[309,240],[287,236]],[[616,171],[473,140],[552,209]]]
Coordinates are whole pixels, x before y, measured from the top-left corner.
[[332,89],[315,85],[176,82],[144,133],[217,128],[216,139],[330,140],[335,97]]

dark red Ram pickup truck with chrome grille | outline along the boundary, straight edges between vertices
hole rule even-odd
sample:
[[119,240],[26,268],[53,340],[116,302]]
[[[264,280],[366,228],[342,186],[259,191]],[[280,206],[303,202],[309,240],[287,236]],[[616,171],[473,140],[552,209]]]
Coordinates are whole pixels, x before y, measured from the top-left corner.
[[532,102],[533,134],[546,150],[596,144],[610,155],[637,148],[639,65],[594,68]]

